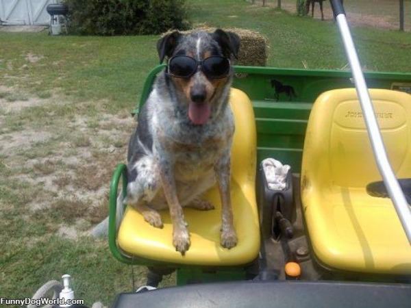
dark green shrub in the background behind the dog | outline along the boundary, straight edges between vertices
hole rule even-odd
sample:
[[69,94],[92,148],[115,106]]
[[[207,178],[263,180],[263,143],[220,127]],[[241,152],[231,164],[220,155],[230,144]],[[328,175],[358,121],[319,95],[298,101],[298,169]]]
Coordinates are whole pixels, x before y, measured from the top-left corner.
[[64,0],[69,31],[83,35],[160,34],[188,29],[185,0]]

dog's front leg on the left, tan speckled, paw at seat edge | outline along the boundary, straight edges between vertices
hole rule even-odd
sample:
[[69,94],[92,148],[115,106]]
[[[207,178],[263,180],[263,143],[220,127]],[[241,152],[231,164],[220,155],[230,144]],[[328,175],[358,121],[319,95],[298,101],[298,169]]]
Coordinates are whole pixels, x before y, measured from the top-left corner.
[[164,155],[159,159],[160,179],[164,190],[164,196],[169,203],[171,221],[173,222],[173,245],[175,250],[184,255],[190,247],[190,235],[188,234],[187,224],[184,220],[182,206],[177,198],[177,190],[174,177],[174,164],[171,159]]

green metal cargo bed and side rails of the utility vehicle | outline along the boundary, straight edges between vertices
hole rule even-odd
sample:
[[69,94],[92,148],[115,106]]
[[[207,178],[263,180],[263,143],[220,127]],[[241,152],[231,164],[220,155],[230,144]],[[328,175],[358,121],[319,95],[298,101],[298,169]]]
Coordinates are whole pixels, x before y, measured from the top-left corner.
[[[156,66],[147,76],[140,101],[133,114],[138,114],[138,110],[149,97],[155,77],[164,67],[164,64]],[[306,125],[312,103],[314,103],[316,97],[325,90],[353,87],[350,81],[351,73],[343,70],[300,70],[235,66],[235,72],[234,87],[245,91],[253,102],[258,132],[258,162],[266,157],[277,157],[282,162],[290,164],[294,172],[299,172],[301,168]],[[411,74],[406,73],[366,73],[365,77],[370,88],[390,88],[393,82],[411,84]],[[275,101],[273,89],[270,85],[272,78],[295,88],[297,94],[299,94],[299,101],[284,101],[284,97],[280,97],[281,101]],[[161,264],[164,266],[164,263],[128,256],[116,244],[116,207],[118,206],[116,198],[121,177],[123,179],[123,196],[127,192],[126,170],[127,168],[124,164],[119,164],[114,171],[110,183],[110,251],[116,259],[126,264],[147,266]],[[177,274],[177,283],[179,284],[185,283],[190,279],[205,277],[205,274],[201,274],[201,266],[168,265],[180,268],[179,274]],[[243,277],[244,269],[223,268],[219,274],[221,277],[241,279],[240,277]],[[210,279],[210,275],[206,278],[206,280],[208,279]]]

